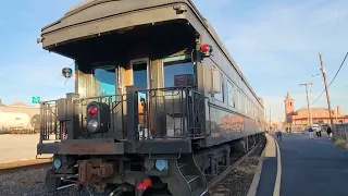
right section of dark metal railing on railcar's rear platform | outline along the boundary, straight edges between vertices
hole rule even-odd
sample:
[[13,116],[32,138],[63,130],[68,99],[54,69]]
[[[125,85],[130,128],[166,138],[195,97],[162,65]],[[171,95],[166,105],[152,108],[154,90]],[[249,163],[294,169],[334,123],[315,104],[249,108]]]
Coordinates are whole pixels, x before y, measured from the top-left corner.
[[189,87],[138,90],[140,139],[204,136],[204,96]]

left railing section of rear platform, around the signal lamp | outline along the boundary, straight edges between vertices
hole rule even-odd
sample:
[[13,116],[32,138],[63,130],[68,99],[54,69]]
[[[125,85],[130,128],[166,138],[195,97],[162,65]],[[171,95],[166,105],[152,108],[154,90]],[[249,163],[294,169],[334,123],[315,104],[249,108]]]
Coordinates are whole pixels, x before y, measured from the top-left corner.
[[86,126],[87,105],[91,101],[104,102],[110,106],[109,135],[101,137],[123,139],[125,131],[125,95],[107,95],[42,101],[40,103],[40,143],[52,140],[53,136],[54,140],[92,138],[96,136],[88,132]]

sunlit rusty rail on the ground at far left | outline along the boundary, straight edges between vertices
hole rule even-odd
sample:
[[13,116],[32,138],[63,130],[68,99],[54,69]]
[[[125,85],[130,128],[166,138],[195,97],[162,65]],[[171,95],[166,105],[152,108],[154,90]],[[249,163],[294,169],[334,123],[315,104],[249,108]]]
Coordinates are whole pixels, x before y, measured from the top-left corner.
[[4,162],[0,163],[0,175],[14,173],[18,171],[41,169],[51,164],[51,159],[30,159],[23,161]]

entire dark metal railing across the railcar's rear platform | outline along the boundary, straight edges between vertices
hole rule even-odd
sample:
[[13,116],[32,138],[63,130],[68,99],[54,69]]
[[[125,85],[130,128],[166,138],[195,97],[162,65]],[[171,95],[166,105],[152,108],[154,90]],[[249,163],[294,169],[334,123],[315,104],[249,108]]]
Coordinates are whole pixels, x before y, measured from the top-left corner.
[[[67,98],[41,102],[40,143],[55,139],[114,138],[122,142],[153,138],[204,137],[206,97],[188,87],[139,90],[126,87],[124,95]],[[87,106],[91,101],[110,106],[109,132],[87,130]]]

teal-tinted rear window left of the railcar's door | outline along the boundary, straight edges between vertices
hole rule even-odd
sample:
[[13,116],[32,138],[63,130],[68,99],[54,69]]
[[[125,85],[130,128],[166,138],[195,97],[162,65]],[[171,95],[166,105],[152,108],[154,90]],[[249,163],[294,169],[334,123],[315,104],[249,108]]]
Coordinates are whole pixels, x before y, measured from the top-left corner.
[[95,95],[115,95],[116,75],[115,66],[101,66],[94,69]]

